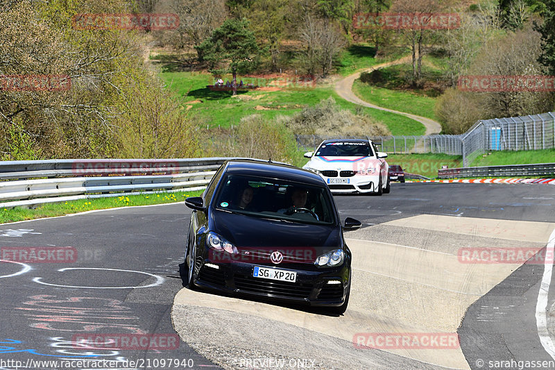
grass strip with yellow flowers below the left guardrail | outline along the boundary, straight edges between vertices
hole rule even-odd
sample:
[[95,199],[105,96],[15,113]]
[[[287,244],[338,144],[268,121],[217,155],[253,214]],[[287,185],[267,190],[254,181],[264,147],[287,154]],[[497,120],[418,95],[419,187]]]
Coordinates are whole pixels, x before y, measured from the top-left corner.
[[157,194],[137,194],[114,198],[83,199],[81,201],[69,201],[63,203],[47,203],[33,209],[23,207],[12,209],[4,208],[0,211],[0,224],[5,224],[6,222],[24,221],[26,219],[42,219],[44,217],[63,216],[89,210],[103,210],[107,208],[128,207],[133,205],[176,203],[185,201],[185,198],[189,196],[199,196],[200,194],[202,194],[202,191],[160,192]]

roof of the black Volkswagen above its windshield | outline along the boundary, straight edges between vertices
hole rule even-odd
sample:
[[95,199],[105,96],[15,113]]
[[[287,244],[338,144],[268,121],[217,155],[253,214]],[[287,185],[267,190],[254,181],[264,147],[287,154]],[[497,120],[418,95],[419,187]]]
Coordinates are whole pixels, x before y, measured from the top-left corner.
[[228,174],[241,174],[261,176],[267,178],[280,178],[283,180],[307,183],[310,185],[326,185],[325,181],[312,171],[300,169],[291,165],[262,160],[228,160],[226,172]]

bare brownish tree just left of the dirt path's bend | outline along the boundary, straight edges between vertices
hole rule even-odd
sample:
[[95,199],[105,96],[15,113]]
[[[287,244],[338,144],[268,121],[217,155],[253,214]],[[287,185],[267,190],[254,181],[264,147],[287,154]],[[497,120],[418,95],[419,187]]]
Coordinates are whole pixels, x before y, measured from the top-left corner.
[[316,74],[321,69],[326,77],[332,69],[332,63],[345,44],[341,34],[325,19],[314,19],[308,16],[300,30],[300,40],[305,45],[302,60],[307,72]]

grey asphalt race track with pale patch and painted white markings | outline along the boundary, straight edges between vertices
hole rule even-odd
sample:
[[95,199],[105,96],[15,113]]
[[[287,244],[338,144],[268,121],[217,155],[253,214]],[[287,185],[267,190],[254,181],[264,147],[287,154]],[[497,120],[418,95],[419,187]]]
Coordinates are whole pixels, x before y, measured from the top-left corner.
[[[335,197],[342,219],[364,225],[345,234],[353,280],[340,317],[184,288],[190,212],[182,203],[0,225],[3,253],[58,246],[69,255],[0,262],[0,369],[555,368],[555,278],[552,262],[546,269],[537,258],[553,255],[555,187],[391,188]],[[461,257],[492,247],[532,251],[535,262]],[[422,346],[364,345],[402,333]],[[449,342],[456,334],[460,346]],[[155,344],[105,340],[145,335]],[[120,362],[76,362],[89,359]]]

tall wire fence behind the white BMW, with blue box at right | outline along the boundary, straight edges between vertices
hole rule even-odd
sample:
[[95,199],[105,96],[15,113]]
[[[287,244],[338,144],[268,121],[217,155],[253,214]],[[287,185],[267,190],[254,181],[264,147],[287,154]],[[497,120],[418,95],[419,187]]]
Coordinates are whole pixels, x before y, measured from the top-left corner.
[[486,151],[555,148],[555,113],[477,121],[462,135],[323,137],[296,135],[297,144],[315,151],[327,139],[370,139],[387,153],[445,153],[462,155],[465,166]]

